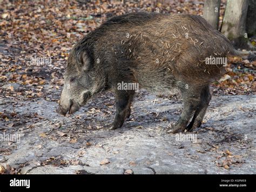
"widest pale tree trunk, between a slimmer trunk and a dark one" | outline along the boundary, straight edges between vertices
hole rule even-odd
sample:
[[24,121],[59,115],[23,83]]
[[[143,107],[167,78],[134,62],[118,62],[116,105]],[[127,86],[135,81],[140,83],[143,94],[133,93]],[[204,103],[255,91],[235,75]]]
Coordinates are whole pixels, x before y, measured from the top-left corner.
[[245,22],[248,2],[248,0],[227,0],[221,33],[230,39],[235,47],[247,46]]

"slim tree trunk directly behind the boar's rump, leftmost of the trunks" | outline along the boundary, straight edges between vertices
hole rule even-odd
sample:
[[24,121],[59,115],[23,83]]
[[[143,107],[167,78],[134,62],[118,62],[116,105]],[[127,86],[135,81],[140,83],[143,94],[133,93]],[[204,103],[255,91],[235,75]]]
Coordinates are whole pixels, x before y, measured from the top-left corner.
[[220,13],[220,0],[206,0],[203,17],[214,29],[218,30]]

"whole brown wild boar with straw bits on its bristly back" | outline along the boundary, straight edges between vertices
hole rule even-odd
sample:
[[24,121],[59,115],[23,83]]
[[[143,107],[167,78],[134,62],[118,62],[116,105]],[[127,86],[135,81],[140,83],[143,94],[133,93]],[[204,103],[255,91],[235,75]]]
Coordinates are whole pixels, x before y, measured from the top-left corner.
[[190,131],[204,118],[209,84],[224,71],[224,64],[208,58],[231,53],[229,40],[200,16],[138,12],[111,18],[71,50],[57,113],[75,113],[92,95],[112,88],[116,117],[110,128],[117,129],[129,118],[136,92],[118,84],[138,84],[154,94],[176,88],[184,108],[169,132]]

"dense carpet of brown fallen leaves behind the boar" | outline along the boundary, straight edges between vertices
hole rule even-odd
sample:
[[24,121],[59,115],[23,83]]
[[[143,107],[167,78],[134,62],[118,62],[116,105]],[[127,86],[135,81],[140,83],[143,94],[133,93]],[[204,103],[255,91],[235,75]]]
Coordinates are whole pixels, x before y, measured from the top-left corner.
[[[58,89],[57,86],[63,85],[60,77],[64,72],[65,62],[73,42],[77,42],[86,33],[95,30],[107,19],[106,16],[122,15],[138,9],[149,12],[203,14],[203,3],[184,1],[167,1],[165,3],[157,1],[126,3],[97,1],[97,4],[87,2],[83,8],[77,1],[72,3],[67,1],[61,4],[50,1],[44,4],[44,9],[40,12],[35,9],[40,7],[38,2],[32,2],[31,5],[20,4],[17,1],[9,2],[8,5],[3,4],[5,11],[0,15],[2,18],[0,26],[5,32],[3,39],[8,42],[3,47],[8,52],[0,52],[0,83],[23,85],[19,92],[16,92],[15,87],[4,90],[3,95],[8,97],[35,99],[44,97],[46,93],[55,92]],[[97,7],[95,7],[96,5]],[[26,10],[27,13],[19,10]],[[221,6],[221,11],[223,14],[223,6]],[[10,19],[11,17],[15,19]],[[55,61],[51,65],[43,63],[34,66],[30,63],[34,57],[52,57]],[[241,57],[231,57],[230,60],[231,63],[241,64],[242,67],[252,70],[256,65],[255,61],[243,60]],[[247,94],[256,88],[253,73],[242,71],[240,74],[240,72],[234,71],[241,69],[241,66],[229,65],[227,67],[233,70],[234,74],[231,76],[227,73],[231,77],[230,79],[215,83],[219,92],[229,88],[227,94]],[[47,73],[52,73],[53,77],[47,77]],[[39,88],[39,86],[42,87]],[[52,99],[55,100],[55,98]],[[165,119],[160,119],[160,121],[162,120],[165,121]]]

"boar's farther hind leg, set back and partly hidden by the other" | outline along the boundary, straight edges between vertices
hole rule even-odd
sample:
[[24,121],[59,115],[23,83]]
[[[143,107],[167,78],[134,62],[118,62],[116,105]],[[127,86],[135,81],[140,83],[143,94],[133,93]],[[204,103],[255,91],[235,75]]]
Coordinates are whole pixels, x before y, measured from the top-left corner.
[[209,102],[211,101],[212,95],[210,93],[209,86],[207,85],[203,88],[201,92],[201,103],[200,108],[194,113],[193,119],[190,124],[187,126],[187,131],[192,131],[194,128],[200,127],[201,122],[205,116],[206,109],[208,107]]

